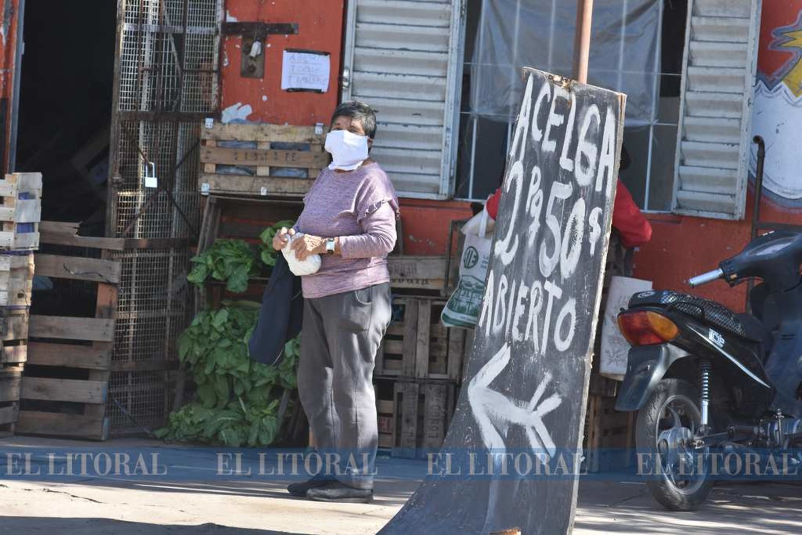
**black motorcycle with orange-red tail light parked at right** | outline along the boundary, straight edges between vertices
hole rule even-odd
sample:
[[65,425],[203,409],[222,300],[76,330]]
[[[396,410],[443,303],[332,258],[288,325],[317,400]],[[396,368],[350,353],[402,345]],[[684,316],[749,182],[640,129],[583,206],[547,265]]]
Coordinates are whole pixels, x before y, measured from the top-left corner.
[[784,452],[802,474],[800,264],[802,234],[766,233],[688,281],[760,279],[751,314],[670,290],[634,294],[618,314],[632,347],[616,409],[638,411],[639,455],[656,454],[646,485],[666,509],[703,503],[714,451]]

